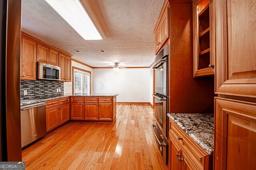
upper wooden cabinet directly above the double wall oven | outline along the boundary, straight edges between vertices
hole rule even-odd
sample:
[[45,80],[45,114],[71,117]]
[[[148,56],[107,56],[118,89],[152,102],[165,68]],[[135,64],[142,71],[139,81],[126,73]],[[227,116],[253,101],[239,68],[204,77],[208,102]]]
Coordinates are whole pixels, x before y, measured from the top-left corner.
[[169,38],[169,1],[165,0],[156,27],[155,34],[155,54],[162,48]]

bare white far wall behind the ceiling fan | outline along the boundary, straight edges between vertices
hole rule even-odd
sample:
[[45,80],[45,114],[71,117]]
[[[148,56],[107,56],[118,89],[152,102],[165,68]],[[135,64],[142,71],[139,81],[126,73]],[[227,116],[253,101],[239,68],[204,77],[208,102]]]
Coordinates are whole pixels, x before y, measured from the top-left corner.
[[[118,93],[117,102],[150,102],[151,68],[93,69],[94,93]],[[142,99],[144,98],[144,99]]]

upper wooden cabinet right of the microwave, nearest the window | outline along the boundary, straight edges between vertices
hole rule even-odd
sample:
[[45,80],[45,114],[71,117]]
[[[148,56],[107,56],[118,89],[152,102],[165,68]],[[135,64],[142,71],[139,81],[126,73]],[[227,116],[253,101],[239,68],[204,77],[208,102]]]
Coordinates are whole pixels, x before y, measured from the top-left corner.
[[59,67],[61,68],[60,78],[61,82],[71,82],[71,58],[60,53]]

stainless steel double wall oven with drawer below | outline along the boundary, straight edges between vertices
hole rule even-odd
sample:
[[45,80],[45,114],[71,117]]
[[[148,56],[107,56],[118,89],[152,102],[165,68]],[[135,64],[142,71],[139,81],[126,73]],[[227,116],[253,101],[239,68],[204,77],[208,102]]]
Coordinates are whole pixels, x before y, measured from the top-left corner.
[[165,45],[156,55],[155,69],[155,115],[156,124],[152,125],[158,149],[163,160],[168,164],[168,131],[167,131],[167,112],[168,112],[168,57],[169,45]]

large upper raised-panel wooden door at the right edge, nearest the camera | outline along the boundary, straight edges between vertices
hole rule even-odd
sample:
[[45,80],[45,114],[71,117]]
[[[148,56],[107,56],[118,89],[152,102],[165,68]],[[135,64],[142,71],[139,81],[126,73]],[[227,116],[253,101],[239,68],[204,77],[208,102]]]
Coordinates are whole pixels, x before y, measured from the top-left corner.
[[256,98],[255,0],[214,0],[216,94]]

